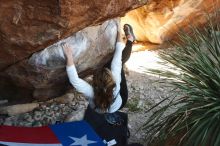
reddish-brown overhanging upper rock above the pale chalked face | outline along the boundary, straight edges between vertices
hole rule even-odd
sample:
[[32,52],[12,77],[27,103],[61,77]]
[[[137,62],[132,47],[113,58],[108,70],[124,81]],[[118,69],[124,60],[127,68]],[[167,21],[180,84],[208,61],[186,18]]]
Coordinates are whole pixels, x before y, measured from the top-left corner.
[[147,0],[1,0],[0,71],[87,26]]

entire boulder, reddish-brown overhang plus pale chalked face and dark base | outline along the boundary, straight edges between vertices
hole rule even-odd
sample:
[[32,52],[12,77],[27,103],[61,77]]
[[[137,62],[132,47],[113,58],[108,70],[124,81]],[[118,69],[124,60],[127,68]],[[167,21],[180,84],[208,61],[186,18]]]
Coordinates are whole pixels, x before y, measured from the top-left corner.
[[0,99],[59,96],[68,81],[63,56],[57,55],[61,51],[58,41],[71,36],[64,41],[75,43],[76,48],[81,47],[77,48],[79,54],[75,59],[79,60],[77,68],[83,75],[89,68],[100,66],[111,57],[116,25],[106,22],[102,26],[80,30],[122,16],[146,2],[1,0]]

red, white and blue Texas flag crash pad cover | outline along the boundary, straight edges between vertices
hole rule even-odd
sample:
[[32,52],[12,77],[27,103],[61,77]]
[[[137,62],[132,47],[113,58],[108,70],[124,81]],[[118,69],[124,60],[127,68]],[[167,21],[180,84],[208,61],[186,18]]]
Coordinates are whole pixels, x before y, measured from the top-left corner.
[[105,146],[85,121],[42,127],[0,126],[2,146]]

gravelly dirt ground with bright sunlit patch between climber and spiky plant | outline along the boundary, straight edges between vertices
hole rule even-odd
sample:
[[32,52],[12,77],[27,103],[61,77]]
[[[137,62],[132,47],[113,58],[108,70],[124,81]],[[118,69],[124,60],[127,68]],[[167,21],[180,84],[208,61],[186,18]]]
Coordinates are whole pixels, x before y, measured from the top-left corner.
[[149,68],[160,69],[163,67],[157,63],[157,61],[160,61],[158,52],[143,51],[132,53],[131,58],[126,63],[129,99],[123,111],[128,113],[131,132],[130,142],[140,142],[146,145],[145,135],[147,133],[140,128],[155,110],[146,111],[163,98],[173,94],[170,92],[172,88],[158,82],[161,80],[159,76],[146,73]]

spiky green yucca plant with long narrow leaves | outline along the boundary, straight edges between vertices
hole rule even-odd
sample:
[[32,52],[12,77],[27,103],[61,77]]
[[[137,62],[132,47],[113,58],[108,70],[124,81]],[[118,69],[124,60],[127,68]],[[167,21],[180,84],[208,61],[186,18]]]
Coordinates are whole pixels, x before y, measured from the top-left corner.
[[146,121],[149,142],[178,135],[179,145],[220,146],[220,25],[208,18],[208,26],[191,26],[190,35],[181,31],[181,41],[172,43],[175,49],[159,54],[172,66],[148,70],[167,77],[163,82],[179,94]]

